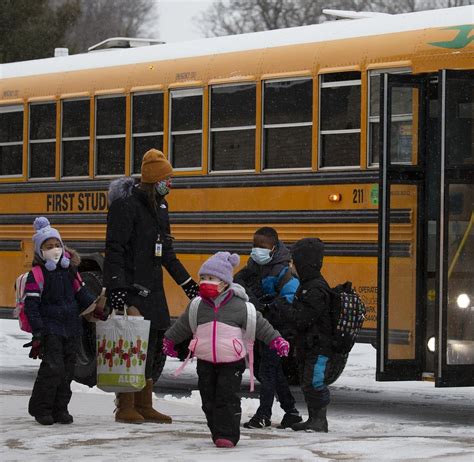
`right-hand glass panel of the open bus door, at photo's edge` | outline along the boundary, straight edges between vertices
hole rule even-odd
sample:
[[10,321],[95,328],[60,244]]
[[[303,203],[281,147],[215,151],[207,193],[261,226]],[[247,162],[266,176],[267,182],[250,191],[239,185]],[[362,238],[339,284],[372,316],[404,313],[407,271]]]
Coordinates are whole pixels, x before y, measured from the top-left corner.
[[474,71],[438,75],[435,384],[474,385]]

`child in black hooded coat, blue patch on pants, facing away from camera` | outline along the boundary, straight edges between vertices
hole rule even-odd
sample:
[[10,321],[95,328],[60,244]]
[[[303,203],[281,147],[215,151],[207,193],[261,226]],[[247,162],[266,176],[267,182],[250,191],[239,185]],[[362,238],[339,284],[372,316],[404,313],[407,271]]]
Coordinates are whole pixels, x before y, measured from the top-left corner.
[[300,280],[291,317],[300,334],[296,350],[302,372],[301,389],[309,414],[306,422],[291,428],[295,431],[327,432],[326,407],[330,395],[324,378],[331,355],[332,326],[330,288],[321,274],[324,244],[316,238],[301,239],[293,245],[291,255],[293,271]]

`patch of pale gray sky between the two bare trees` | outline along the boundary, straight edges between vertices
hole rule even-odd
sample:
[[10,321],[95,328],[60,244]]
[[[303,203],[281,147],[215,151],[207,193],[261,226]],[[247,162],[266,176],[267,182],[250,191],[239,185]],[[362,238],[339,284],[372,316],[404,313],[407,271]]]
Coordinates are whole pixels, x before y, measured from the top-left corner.
[[181,42],[203,38],[192,22],[193,16],[206,10],[216,0],[158,0],[160,40]]

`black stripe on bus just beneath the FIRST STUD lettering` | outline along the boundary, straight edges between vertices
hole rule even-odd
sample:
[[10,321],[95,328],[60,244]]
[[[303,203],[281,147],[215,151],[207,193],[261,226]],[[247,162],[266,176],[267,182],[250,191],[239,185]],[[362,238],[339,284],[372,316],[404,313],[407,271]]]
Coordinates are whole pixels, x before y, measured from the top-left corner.
[[[53,224],[104,224],[105,213],[46,214]],[[0,224],[31,224],[36,215],[0,215]],[[410,223],[410,210],[393,209],[391,223]],[[228,212],[170,212],[173,224],[265,224],[265,223],[377,223],[378,210],[259,210]]]

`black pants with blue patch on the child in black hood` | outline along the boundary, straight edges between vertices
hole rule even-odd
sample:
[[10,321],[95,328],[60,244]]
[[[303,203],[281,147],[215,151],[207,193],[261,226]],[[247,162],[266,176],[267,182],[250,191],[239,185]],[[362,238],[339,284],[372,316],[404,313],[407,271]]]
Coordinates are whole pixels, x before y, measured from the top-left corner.
[[324,383],[329,358],[316,353],[307,353],[302,365],[301,390],[308,409],[317,411],[330,401],[329,388]]

